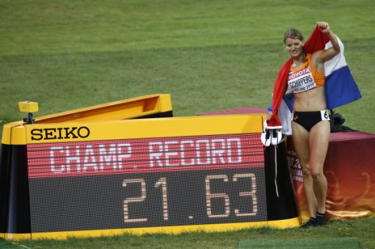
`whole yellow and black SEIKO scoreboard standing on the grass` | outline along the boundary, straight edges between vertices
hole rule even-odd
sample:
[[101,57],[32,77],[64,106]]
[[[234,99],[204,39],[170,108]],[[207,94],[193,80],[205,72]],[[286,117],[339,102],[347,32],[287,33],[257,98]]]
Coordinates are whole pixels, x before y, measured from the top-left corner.
[[173,118],[169,95],[6,124],[0,233],[65,239],[297,226],[286,162],[268,162],[262,124],[259,114]]

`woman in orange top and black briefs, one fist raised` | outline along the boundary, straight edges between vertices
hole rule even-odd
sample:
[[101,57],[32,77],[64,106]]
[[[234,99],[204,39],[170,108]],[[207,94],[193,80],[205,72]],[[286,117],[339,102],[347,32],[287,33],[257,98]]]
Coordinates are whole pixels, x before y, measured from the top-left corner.
[[[293,58],[288,76],[288,88],[295,96],[293,143],[304,174],[304,192],[311,216],[301,228],[324,223],[327,182],[323,165],[331,132],[324,95],[324,62],[340,53],[338,39],[329,24],[319,21],[317,26],[329,36],[331,48],[307,54],[299,30],[290,29],[284,36],[286,50]],[[268,113],[267,120],[271,116],[272,112]]]

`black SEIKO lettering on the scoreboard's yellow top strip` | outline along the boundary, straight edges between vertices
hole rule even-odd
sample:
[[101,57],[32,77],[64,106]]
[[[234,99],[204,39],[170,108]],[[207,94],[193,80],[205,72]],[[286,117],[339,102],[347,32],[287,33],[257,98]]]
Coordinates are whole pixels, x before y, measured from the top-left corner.
[[89,135],[90,130],[87,127],[45,128],[31,130],[31,140],[87,138]]

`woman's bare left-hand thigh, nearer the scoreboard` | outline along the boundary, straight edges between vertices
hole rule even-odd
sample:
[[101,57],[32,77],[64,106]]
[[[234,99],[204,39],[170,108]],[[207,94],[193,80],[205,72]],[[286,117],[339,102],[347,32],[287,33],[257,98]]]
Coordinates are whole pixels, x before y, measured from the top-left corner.
[[308,167],[308,162],[310,161],[310,145],[308,143],[308,131],[304,129],[300,124],[292,122],[293,130],[293,145],[295,147],[295,152],[299,163],[302,168]]

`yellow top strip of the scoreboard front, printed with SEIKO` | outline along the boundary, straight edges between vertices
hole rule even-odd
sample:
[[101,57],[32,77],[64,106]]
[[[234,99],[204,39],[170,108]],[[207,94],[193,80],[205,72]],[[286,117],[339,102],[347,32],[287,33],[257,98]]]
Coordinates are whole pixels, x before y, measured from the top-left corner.
[[[132,138],[203,136],[234,133],[261,133],[262,116],[236,114],[183,118],[150,118],[77,122],[61,124],[26,124],[28,143],[80,142]],[[236,123],[236,126],[232,124]]]

